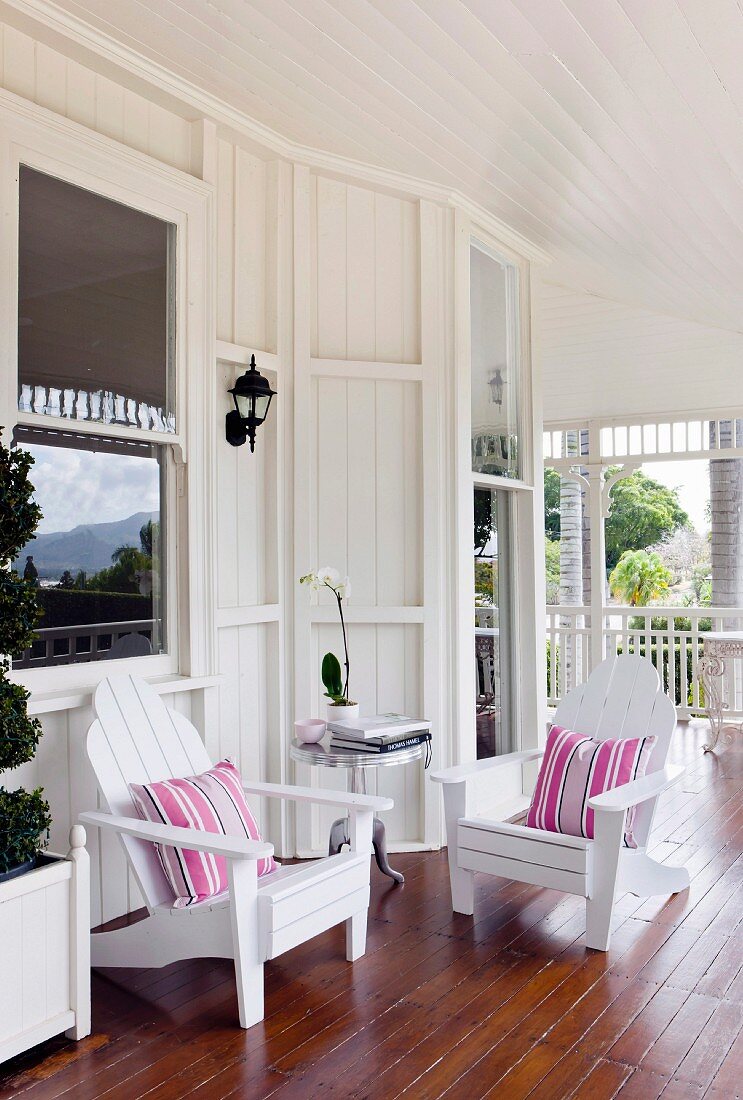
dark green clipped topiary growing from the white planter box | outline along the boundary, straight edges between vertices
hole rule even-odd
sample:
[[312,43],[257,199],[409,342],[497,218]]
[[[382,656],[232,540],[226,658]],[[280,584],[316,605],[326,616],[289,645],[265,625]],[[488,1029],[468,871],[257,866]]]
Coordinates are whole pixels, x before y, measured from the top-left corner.
[[[28,714],[29,692],[8,675],[10,657],[31,645],[40,616],[35,585],[11,569],[41,518],[29,480],[32,464],[26,451],[0,443],[0,771],[31,760],[41,736],[39,719]],[[51,824],[41,788],[0,787],[0,873],[32,859],[48,840]]]

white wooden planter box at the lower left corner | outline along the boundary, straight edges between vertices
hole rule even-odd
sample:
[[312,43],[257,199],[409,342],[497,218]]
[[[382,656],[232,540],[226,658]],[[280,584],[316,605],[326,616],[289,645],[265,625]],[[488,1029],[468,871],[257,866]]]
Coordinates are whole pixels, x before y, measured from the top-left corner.
[[85,829],[70,849],[0,882],[0,1062],[66,1032],[90,1034],[90,881]]

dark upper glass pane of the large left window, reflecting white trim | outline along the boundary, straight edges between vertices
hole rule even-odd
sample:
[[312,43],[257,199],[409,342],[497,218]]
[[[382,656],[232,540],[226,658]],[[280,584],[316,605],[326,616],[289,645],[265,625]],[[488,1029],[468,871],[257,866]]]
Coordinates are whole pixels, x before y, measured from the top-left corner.
[[175,227],[21,166],[19,407],[175,431]]

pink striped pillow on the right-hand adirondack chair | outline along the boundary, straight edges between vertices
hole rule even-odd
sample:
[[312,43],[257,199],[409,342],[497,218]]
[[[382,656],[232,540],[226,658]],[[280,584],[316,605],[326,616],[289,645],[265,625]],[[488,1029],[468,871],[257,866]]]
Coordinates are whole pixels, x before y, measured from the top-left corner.
[[[553,726],[526,815],[527,826],[593,839],[593,811],[588,800],[644,776],[656,740],[630,737],[599,741]],[[627,848],[637,847],[632,835],[634,818],[633,806],[624,823]]]

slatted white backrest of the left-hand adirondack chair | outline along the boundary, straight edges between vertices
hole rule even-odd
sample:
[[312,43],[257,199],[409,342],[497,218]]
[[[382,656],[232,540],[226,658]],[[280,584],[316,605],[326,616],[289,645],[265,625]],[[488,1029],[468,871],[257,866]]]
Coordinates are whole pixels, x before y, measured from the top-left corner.
[[[103,680],[94,696],[96,721],[88,730],[88,758],[112,814],[139,817],[130,783],[198,774],[211,767],[204,743],[184,715],[171,711],[139,676]],[[170,904],[173,891],[154,845],[121,837],[150,910]]]

